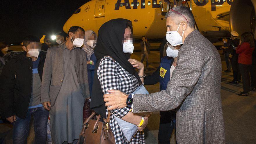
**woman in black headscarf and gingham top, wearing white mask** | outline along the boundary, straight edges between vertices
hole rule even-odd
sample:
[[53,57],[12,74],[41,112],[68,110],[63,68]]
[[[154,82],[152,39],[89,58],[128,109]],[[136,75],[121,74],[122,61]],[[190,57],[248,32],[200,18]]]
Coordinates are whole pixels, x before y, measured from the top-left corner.
[[[144,75],[144,65],[139,61],[129,59],[134,49],[131,34],[131,21],[127,19],[112,19],[99,29],[95,47],[97,63],[90,107],[103,118],[106,118],[108,113],[103,101],[103,94],[108,93],[108,90],[111,89],[130,94],[144,81],[144,78],[140,78]],[[139,69],[138,73],[135,71],[135,67]],[[111,113],[109,124],[115,137],[115,143],[145,143],[143,131],[138,131],[131,141],[127,140],[113,115],[134,125],[139,125],[142,119],[145,119],[143,126],[147,124],[147,118],[134,115],[128,107],[112,110]]]

